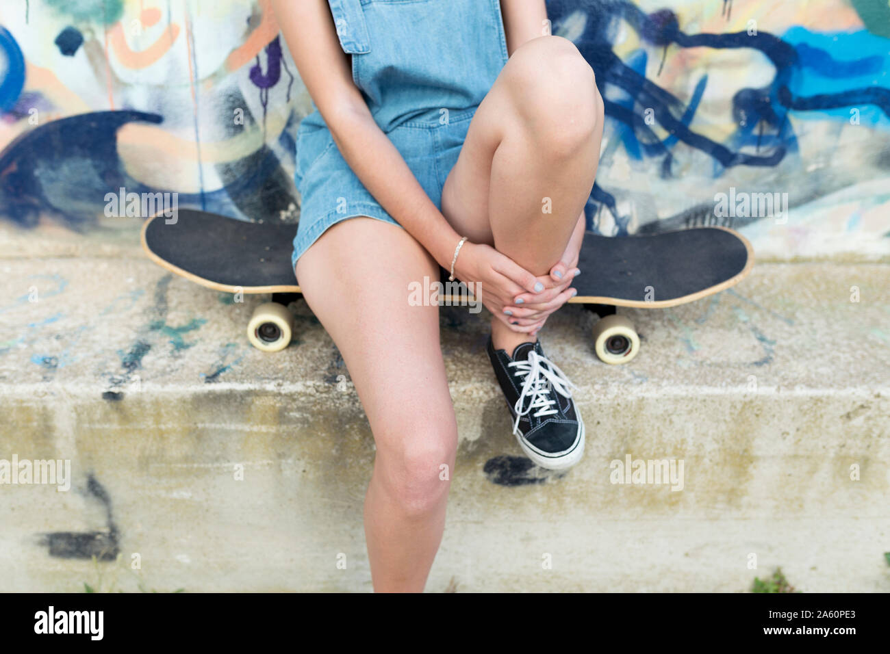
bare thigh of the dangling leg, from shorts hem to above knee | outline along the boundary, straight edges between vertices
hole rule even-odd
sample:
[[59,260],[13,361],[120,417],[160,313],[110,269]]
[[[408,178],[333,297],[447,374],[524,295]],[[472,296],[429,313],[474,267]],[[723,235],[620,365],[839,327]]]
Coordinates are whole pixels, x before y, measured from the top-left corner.
[[297,261],[296,275],[343,355],[374,432],[378,464],[383,455],[396,467],[406,460],[452,465],[457,426],[439,307],[409,303],[409,284],[438,281],[433,258],[398,226],[351,218],[325,231]]

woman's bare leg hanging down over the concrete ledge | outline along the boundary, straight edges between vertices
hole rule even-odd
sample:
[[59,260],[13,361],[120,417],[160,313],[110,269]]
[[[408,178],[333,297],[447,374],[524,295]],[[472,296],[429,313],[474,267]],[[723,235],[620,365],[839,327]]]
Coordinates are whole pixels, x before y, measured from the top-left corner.
[[343,355],[374,433],[365,498],[374,589],[422,591],[444,528],[457,422],[439,308],[410,306],[409,283],[438,281],[439,267],[407,231],[352,218],[303,254],[296,275]]

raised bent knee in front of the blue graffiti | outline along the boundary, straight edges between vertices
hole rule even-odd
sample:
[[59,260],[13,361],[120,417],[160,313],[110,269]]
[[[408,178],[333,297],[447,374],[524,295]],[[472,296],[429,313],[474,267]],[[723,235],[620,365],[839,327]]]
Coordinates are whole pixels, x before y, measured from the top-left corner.
[[570,156],[602,132],[603,99],[594,70],[571,41],[532,39],[508,65],[516,112],[533,138],[546,144],[542,154]]

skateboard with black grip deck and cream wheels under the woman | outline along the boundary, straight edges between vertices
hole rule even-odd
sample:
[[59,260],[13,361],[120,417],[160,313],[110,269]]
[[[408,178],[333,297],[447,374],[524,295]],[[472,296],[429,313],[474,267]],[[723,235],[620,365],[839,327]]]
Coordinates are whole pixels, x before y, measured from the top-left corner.
[[[152,261],[201,286],[271,294],[271,302],[257,306],[247,323],[247,338],[272,352],[290,343],[294,319],[287,304],[301,293],[291,268],[295,234],[295,224],[180,209],[175,219],[163,214],[148,219],[142,247]],[[578,257],[583,274],[573,285],[578,295],[569,302],[599,315],[593,329],[596,356],[609,364],[627,363],[639,352],[640,338],[616,307],[660,309],[693,302],[737,284],[753,265],[748,240],[723,227],[622,238],[587,233]],[[460,299],[451,297],[456,283],[445,289],[440,303]]]

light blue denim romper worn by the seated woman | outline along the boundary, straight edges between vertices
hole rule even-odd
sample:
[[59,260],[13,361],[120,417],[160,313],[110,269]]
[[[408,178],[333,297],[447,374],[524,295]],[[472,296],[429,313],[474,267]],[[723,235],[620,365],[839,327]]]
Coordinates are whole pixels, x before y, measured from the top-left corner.
[[[470,119],[507,60],[500,0],[328,4],[371,115],[441,210]],[[295,182],[302,202],[292,264],[337,222],[367,215],[398,224],[352,172],[318,109],[297,130]]]

